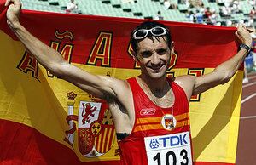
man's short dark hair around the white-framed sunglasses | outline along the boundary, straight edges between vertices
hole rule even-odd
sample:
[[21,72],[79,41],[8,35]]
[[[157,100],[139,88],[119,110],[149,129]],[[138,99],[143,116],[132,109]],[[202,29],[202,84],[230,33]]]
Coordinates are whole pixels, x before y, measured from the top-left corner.
[[[152,29],[153,27],[160,26],[166,29],[166,34],[164,35],[166,37],[166,43],[168,44],[168,47],[171,48],[171,43],[172,43],[172,36],[170,33],[170,30],[168,29],[167,26],[157,22],[157,21],[145,21],[139,26],[137,26],[133,31],[131,31],[131,47],[134,50],[134,52],[137,54],[137,43],[142,41],[143,39],[134,39],[133,34],[140,30],[140,29]],[[149,32],[147,37],[152,37],[153,35]]]

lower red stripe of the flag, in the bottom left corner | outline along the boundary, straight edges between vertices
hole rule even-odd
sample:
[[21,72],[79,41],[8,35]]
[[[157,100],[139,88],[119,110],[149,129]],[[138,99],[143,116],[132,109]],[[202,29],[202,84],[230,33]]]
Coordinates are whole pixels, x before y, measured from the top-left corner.
[[[0,119],[1,165],[118,165],[119,161],[80,162],[66,145],[22,123]],[[22,143],[20,143],[22,141]]]

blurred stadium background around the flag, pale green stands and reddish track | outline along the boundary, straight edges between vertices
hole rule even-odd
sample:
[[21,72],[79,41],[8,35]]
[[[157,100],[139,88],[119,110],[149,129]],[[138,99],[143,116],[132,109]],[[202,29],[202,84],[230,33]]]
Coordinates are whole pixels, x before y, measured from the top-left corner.
[[[245,24],[255,31],[256,0],[21,0],[23,9],[214,26]],[[237,165],[256,164],[256,34],[245,60]]]

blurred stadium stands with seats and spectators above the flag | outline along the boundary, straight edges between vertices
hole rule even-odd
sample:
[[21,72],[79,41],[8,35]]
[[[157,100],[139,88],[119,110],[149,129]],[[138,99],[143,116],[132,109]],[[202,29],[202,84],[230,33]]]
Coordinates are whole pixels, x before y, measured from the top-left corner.
[[255,26],[255,0],[22,0],[24,9],[172,20],[218,26]]

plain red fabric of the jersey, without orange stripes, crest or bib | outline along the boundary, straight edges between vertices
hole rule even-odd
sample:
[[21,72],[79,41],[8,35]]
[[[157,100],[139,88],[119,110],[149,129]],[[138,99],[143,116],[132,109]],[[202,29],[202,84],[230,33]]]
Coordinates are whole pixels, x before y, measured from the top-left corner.
[[[174,82],[170,81],[170,85],[175,97],[174,105],[170,108],[161,108],[155,105],[151,100],[149,100],[147,94],[143,92],[143,89],[140,88],[139,84],[137,83],[136,78],[130,78],[128,79],[128,82],[130,83],[131,91],[133,94],[136,122],[131,131],[131,134],[125,139],[119,141],[121,161],[123,165],[145,165],[148,164],[148,160],[144,147],[144,137],[181,133],[189,131],[190,128],[189,125],[185,125],[180,128],[175,128],[172,131],[161,128],[135,132],[135,129],[137,127],[141,127],[142,125],[140,122],[137,122],[137,120],[141,118],[145,119],[148,117],[150,117],[151,119],[154,117],[163,117],[165,114],[172,114],[172,112],[172,115],[174,117],[184,113],[189,113],[189,103],[186,94],[183,91],[183,88],[179,87]],[[154,114],[141,115],[141,111],[148,108],[155,109]],[[189,120],[189,117],[187,117],[186,119]],[[157,124],[161,126],[160,122]]]

